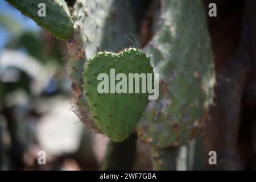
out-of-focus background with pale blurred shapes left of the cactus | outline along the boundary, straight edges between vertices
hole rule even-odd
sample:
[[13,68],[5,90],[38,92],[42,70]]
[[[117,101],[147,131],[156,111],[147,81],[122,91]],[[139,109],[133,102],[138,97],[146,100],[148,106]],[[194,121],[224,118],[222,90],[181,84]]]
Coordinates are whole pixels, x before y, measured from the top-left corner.
[[92,141],[106,139],[72,112],[65,42],[4,1],[0,12],[0,169],[97,169]]

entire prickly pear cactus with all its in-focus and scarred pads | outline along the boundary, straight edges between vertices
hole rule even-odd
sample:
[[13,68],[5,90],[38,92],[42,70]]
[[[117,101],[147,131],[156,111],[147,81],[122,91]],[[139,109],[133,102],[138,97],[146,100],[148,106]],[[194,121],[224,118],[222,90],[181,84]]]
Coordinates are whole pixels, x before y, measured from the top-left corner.
[[[161,1],[160,21],[154,25],[158,31],[143,49],[150,59],[138,48],[125,48],[138,46],[127,36],[136,36],[129,1],[77,0],[71,15],[64,0],[47,0],[46,17],[36,16],[39,0],[8,2],[67,40],[76,111],[86,126],[114,142],[128,138],[136,127],[139,140],[155,148],[157,169],[168,169],[161,167],[168,147],[185,144],[199,133],[215,81],[201,0]],[[99,73],[110,76],[112,68],[125,75],[153,73],[151,65],[160,77],[158,100],[148,103],[147,94],[98,94]]]

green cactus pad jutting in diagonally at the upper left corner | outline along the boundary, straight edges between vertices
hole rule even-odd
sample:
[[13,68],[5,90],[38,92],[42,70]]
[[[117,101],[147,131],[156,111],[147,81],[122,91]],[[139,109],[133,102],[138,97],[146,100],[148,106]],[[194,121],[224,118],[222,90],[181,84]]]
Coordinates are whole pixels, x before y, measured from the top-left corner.
[[[73,21],[64,0],[7,0],[7,2],[51,32],[56,38],[65,40],[71,37]],[[46,16],[38,15],[40,3],[46,5]]]

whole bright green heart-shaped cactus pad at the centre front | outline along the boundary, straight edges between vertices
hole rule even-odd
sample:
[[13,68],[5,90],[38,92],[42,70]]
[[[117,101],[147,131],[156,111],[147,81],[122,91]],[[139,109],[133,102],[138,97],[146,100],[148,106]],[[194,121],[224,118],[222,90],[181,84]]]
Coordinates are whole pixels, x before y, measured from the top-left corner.
[[[136,80],[131,75],[141,77]],[[143,81],[143,75],[146,75],[147,81]],[[150,59],[136,48],[119,53],[98,52],[88,61],[85,96],[98,126],[114,142],[128,138],[141,119],[148,103],[147,86],[150,84],[146,83],[151,80],[153,85]]]

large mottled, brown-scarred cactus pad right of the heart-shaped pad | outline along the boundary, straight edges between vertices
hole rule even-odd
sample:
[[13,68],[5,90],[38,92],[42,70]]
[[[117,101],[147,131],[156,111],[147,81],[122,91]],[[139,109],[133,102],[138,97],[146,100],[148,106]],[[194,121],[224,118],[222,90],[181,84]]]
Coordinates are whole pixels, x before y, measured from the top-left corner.
[[137,127],[156,148],[180,146],[199,132],[215,82],[203,2],[162,0],[160,30],[144,48],[159,73],[159,98]]

